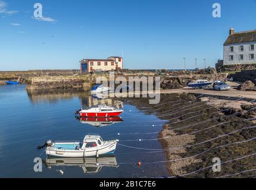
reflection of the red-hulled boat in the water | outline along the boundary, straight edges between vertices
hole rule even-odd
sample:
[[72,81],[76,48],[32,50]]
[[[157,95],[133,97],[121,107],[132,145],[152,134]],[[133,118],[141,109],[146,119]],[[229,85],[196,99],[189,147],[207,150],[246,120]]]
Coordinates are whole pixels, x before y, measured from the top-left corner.
[[82,124],[89,124],[92,126],[107,126],[123,122],[119,117],[111,118],[79,118]]

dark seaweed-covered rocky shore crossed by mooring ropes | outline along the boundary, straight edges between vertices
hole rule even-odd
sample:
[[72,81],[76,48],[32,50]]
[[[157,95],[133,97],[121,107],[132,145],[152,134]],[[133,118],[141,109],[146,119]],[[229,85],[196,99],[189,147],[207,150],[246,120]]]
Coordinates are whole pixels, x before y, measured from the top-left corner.
[[[180,99],[182,102],[177,102],[179,105],[170,103]],[[148,105],[143,99],[132,102],[137,106]],[[256,142],[253,138],[256,137],[256,131],[254,128],[245,127],[254,126],[256,122],[245,119],[256,118],[255,110],[246,112],[256,107],[256,103],[208,97],[197,100],[189,94],[163,94],[160,105],[164,102],[166,104],[157,111],[150,108],[144,111],[154,113],[161,119],[170,119],[159,134],[163,149],[169,148],[165,152],[166,160],[173,160],[167,162],[170,176],[217,178],[246,169],[255,169],[254,156],[223,164],[221,172],[213,172],[211,167],[202,168],[212,166],[215,157],[220,158],[221,162],[226,162],[254,153]],[[233,133],[229,134],[230,132]],[[189,174],[198,169],[202,170]],[[251,178],[255,175],[256,172],[248,172],[235,177]]]

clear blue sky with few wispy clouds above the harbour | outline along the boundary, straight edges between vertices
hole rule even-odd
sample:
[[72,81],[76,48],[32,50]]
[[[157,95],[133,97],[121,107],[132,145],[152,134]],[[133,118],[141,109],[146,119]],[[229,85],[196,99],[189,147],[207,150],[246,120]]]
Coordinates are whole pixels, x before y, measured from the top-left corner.
[[[43,5],[46,21],[33,17]],[[213,4],[221,18],[213,18]],[[0,0],[0,71],[78,69],[83,58],[121,56],[124,68],[214,66],[229,28],[255,29],[255,0]]]

